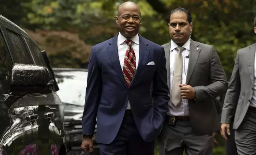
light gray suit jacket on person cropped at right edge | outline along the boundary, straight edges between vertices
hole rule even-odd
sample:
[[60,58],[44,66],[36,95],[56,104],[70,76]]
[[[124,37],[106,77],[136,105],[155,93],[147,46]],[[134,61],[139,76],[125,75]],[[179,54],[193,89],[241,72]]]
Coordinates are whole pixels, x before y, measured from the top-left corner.
[[241,124],[252,98],[255,50],[256,43],[237,51],[221,113],[221,123],[231,124],[235,115],[233,129]]

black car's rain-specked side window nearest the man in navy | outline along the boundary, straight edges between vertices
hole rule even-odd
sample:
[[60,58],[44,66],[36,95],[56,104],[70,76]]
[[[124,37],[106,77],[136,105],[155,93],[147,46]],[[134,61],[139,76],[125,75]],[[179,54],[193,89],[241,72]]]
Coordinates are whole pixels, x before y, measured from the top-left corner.
[[36,63],[37,65],[46,66],[45,61],[44,61],[44,59],[43,59],[43,56],[42,56],[42,54],[41,54],[41,51],[40,51],[40,49],[37,47],[37,45],[35,45],[35,44],[34,44],[33,42],[31,42],[31,40],[29,40],[29,39],[26,39],[26,42],[27,42],[27,44],[28,44],[28,46],[29,46],[29,49],[30,49],[32,55],[33,55],[33,58],[34,58],[34,60],[35,60],[35,63]]

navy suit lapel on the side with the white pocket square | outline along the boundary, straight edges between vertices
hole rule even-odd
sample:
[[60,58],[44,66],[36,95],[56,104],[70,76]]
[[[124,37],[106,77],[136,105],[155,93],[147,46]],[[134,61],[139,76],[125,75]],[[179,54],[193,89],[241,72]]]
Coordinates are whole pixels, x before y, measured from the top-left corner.
[[140,76],[140,73],[142,72],[142,69],[144,68],[145,63],[147,62],[147,57],[150,51],[149,47],[147,46],[148,44],[147,41],[142,36],[140,36],[140,34],[138,35],[140,38],[140,51],[139,51],[139,62],[136,62],[136,63],[139,63],[139,64],[129,87],[131,87]]

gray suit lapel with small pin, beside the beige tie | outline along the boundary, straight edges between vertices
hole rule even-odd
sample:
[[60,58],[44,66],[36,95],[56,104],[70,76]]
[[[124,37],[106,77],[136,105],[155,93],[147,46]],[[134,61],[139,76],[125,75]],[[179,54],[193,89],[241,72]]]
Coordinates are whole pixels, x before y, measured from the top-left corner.
[[188,81],[190,80],[190,77],[194,71],[200,50],[201,48],[199,47],[199,44],[191,40],[186,84],[188,84]]

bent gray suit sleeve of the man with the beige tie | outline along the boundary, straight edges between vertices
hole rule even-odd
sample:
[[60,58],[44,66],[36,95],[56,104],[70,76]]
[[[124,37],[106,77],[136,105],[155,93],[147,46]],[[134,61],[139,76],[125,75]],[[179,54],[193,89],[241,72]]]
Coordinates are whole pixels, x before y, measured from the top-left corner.
[[221,61],[214,47],[211,46],[211,59],[210,59],[210,83],[208,86],[194,87],[196,92],[196,100],[205,101],[209,98],[216,98],[221,96],[227,91],[227,77],[221,65]]

